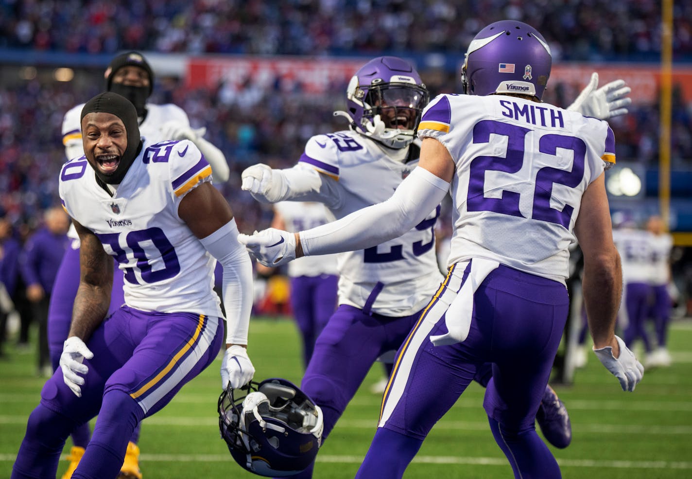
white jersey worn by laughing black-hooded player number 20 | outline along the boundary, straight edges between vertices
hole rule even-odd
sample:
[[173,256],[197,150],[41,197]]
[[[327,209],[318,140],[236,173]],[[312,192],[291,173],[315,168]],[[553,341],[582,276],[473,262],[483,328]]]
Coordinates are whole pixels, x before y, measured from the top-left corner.
[[128,306],[221,317],[212,291],[216,261],[178,216],[185,194],[210,180],[211,167],[191,141],[147,141],[113,197],[81,156],[63,165],[60,198],[118,261]]

